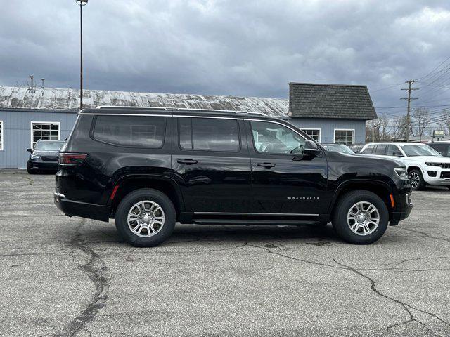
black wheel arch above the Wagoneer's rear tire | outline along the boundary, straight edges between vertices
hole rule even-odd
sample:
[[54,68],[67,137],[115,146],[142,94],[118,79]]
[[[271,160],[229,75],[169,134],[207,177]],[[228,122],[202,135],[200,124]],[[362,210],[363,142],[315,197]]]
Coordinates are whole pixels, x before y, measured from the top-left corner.
[[114,186],[116,192],[113,195],[113,199],[110,199],[111,217],[115,216],[117,206],[127,194],[142,188],[151,188],[166,194],[172,201],[172,204],[174,204],[177,221],[179,220],[181,212],[184,211],[184,199],[179,187],[173,179],[168,178],[167,176],[154,174],[125,176],[117,180]]

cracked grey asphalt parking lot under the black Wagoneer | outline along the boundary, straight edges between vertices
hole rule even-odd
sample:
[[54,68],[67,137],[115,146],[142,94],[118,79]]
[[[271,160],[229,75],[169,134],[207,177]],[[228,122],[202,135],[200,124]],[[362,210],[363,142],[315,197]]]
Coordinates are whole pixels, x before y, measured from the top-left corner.
[[371,246],[330,225],[178,225],[136,249],[0,173],[0,336],[449,336],[450,190]]

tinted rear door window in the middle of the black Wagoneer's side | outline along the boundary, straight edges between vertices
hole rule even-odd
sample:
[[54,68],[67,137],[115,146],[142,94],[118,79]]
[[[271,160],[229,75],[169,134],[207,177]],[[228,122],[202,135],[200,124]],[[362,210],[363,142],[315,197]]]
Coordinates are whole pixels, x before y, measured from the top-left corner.
[[179,146],[184,150],[239,152],[238,121],[179,117]]

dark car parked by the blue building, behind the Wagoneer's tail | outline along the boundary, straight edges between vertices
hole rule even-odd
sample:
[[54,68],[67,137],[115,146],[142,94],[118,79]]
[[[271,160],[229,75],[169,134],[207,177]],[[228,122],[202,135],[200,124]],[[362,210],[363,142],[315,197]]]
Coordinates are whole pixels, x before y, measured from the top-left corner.
[[27,149],[30,158],[27,161],[27,172],[56,171],[58,169],[58,152],[65,144],[64,140],[38,140],[34,149]]

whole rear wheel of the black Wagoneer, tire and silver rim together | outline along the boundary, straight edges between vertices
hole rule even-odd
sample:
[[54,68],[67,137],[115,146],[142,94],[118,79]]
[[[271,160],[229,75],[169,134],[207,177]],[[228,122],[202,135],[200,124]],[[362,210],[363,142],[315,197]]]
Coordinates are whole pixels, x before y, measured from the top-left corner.
[[[133,220],[128,220],[129,214]],[[159,223],[154,222],[155,219],[158,219]],[[120,201],[115,213],[115,227],[120,237],[136,247],[153,247],[164,242],[172,235],[175,221],[175,207],[167,195],[146,188],[127,194]]]

